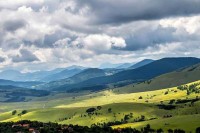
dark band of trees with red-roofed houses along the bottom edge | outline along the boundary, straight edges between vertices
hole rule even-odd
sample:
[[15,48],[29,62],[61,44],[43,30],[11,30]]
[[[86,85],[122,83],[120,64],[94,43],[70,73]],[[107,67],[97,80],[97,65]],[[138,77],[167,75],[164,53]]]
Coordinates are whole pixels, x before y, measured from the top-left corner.
[[[24,126],[13,126],[13,125],[29,125],[28,127]],[[92,125],[91,127],[79,126],[79,125],[61,125],[58,123],[43,123],[38,121],[19,121],[19,122],[5,122],[0,123],[0,132],[1,133],[16,133],[24,132],[29,133],[38,132],[38,133],[163,133],[163,129],[152,129],[148,124],[141,130],[133,128],[117,128],[112,129],[108,124],[103,126]],[[196,128],[196,132],[200,133],[200,127]],[[168,133],[185,133],[181,129],[169,129]]]

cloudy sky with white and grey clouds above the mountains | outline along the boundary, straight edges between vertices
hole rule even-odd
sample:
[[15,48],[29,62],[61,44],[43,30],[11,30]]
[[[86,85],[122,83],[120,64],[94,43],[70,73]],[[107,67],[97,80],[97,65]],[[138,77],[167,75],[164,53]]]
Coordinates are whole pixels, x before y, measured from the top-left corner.
[[200,57],[200,0],[0,0],[0,69]]

